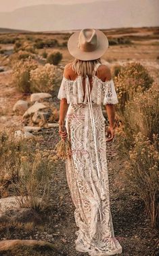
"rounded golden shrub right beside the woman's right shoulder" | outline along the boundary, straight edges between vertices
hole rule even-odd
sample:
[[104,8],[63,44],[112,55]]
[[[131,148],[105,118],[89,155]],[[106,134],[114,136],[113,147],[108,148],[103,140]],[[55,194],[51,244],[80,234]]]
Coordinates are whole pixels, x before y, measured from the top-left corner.
[[154,79],[150,77],[147,69],[139,62],[128,63],[123,66],[116,77],[116,92],[118,94],[118,111],[124,112],[129,100],[133,100],[137,92],[143,92],[150,88]]

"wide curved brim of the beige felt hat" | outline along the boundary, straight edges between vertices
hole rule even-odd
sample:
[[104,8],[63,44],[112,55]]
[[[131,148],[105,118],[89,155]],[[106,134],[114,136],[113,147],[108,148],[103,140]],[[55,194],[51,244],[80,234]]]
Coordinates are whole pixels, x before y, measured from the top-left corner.
[[93,52],[84,52],[78,48],[77,43],[80,31],[73,33],[68,39],[68,52],[70,52],[74,58],[78,58],[78,60],[95,60],[101,58],[106,50],[108,50],[109,42],[102,31],[99,31],[98,29],[95,29],[95,31],[97,33],[98,45]]

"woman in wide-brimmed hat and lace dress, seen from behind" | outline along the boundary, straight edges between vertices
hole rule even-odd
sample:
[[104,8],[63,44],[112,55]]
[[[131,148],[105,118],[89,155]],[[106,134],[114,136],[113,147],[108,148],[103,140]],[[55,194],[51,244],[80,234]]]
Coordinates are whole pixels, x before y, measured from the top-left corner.
[[[66,177],[75,206],[78,227],[76,251],[89,255],[115,255],[122,246],[114,237],[110,211],[106,134],[101,104],[110,126],[107,141],[114,138],[114,105],[118,103],[109,67],[101,63],[108,39],[97,29],[82,29],[68,40],[74,61],[64,68],[60,99],[59,134],[71,143]],[[63,126],[66,120],[66,126]]]

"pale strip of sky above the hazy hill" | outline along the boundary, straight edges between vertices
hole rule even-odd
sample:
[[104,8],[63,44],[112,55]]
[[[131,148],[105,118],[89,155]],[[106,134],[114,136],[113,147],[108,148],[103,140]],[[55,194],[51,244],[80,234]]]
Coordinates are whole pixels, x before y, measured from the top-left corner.
[[12,12],[20,7],[39,4],[70,4],[89,3],[93,1],[115,1],[115,0],[0,0],[0,12]]

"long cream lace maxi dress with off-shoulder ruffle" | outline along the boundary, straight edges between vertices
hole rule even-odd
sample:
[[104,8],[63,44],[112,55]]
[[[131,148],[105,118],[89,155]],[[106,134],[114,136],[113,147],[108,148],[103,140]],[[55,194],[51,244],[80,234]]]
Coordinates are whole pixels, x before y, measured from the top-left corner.
[[66,130],[72,145],[72,156],[66,159],[66,177],[75,206],[76,251],[91,256],[122,253],[122,246],[114,237],[110,211],[106,134],[101,103],[118,103],[113,80],[101,81],[93,73],[90,93],[89,77],[75,80],[63,76],[58,98],[66,98]]

